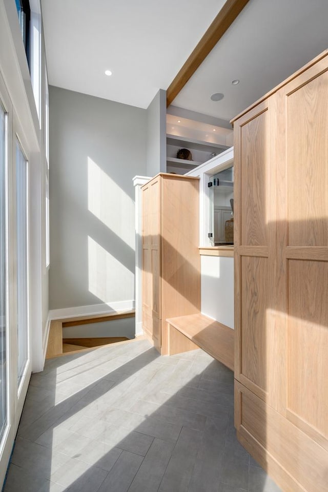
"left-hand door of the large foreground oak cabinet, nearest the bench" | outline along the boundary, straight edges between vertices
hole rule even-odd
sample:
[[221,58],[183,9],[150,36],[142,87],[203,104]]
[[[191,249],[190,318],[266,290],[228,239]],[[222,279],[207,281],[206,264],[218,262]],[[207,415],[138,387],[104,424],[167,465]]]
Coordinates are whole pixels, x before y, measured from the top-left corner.
[[234,123],[235,378],[272,406],[277,402],[279,337],[273,265],[275,111],[268,99]]

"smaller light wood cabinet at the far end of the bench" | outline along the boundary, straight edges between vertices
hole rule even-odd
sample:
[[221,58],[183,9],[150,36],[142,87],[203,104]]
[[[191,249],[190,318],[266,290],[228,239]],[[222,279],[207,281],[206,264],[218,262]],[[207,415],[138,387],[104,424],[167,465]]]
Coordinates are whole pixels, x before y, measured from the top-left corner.
[[199,179],[159,174],[141,195],[142,325],[166,355],[166,319],[200,311]]

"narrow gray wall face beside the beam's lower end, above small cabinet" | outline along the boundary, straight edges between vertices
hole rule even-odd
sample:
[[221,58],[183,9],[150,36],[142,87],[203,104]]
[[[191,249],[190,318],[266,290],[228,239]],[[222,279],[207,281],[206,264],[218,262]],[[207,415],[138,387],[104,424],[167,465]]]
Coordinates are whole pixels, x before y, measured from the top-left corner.
[[166,173],[166,91],[160,89],[147,109],[146,176]]

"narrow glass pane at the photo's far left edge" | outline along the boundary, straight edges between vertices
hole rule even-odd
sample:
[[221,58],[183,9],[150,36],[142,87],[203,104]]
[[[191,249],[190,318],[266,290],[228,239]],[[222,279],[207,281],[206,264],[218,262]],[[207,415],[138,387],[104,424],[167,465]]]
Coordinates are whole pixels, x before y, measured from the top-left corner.
[[0,439],[7,422],[7,227],[6,227],[7,115],[0,102]]

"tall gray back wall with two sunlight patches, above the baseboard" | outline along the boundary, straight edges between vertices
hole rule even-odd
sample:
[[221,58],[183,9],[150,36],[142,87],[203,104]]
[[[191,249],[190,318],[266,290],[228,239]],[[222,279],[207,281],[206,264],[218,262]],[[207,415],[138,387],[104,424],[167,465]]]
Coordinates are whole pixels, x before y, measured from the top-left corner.
[[50,87],[50,309],[134,299],[147,111]]

